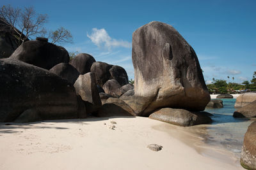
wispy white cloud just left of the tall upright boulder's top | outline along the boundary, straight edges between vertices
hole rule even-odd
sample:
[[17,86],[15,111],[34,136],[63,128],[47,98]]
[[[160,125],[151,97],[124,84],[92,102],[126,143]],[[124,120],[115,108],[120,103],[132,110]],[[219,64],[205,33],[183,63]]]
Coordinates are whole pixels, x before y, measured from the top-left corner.
[[93,28],[92,29],[92,34],[87,34],[88,38],[91,39],[91,41],[97,45],[98,47],[105,46],[108,48],[108,50],[111,50],[112,47],[118,47],[122,46],[125,48],[131,48],[131,43],[128,41],[124,40],[116,40],[111,38],[108,35],[108,32],[103,28],[103,29],[97,29]]

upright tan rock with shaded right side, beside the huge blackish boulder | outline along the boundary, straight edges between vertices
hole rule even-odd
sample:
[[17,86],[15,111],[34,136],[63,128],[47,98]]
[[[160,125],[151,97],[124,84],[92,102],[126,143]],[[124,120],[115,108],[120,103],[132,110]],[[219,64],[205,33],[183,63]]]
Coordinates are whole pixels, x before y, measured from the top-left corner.
[[101,106],[100,96],[97,90],[95,74],[86,73],[79,75],[74,83],[77,95],[86,101],[87,114],[97,111]]

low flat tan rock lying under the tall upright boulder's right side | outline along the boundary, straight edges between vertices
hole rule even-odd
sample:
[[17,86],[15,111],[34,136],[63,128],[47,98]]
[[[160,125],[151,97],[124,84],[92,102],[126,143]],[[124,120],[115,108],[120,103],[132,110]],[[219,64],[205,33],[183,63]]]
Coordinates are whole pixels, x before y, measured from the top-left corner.
[[209,124],[212,122],[211,118],[207,117],[205,113],[172,108],[157,110],[149,118],[180,126]]

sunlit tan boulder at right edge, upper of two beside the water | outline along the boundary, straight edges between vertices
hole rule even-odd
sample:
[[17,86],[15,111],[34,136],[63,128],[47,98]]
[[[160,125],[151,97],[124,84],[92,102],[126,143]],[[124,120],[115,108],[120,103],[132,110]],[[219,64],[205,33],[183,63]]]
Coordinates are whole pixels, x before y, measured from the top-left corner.
[[241,94],[236,98],[235,108],[241,108],[252,103],[253,101],[256,101],[255,92]]

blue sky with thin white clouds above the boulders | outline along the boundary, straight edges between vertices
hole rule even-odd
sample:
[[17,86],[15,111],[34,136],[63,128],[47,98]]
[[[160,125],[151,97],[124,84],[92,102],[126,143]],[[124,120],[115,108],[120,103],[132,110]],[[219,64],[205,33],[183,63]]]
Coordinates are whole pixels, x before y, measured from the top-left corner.
[[34,6],[49,16],[48,30],[71,31],[73,43],[61,44],[68,52],[122,66],[129,79],[134,79],[132,32],[154,20],[172,25],[193,47],[206,83],[212,78],[242,83],[256,71],[255,0],[1,0],[4,4]]

